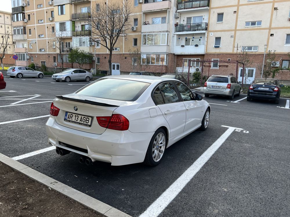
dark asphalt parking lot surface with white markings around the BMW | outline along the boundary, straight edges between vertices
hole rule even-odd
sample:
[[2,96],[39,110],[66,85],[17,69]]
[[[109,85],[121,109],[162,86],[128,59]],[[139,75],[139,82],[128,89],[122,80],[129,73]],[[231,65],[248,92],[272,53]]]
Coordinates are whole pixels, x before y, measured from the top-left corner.
[[[277,105],[248,102],[246,95],[204,98],[211,104],[209,128],[169,147],[157,167],[86,166],[78,163],[79,155],[61,157],[50,148],[45,123],[55,95],[72,93],[87,82],[4,80],[0,153],[122,212],[142,217],[289,216],[289,99]],[[216,150],[209,152],[210,147]]]

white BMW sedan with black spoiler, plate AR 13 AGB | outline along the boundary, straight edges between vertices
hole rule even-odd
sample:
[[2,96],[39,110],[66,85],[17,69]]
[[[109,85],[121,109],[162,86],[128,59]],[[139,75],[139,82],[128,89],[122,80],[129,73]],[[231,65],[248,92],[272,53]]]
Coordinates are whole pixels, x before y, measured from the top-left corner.
[[182,82],[155,76],[106,76],[56,96],[46,122],[48,142],[80,163],[160,163],[166,148],[206,130],[211,107]]

